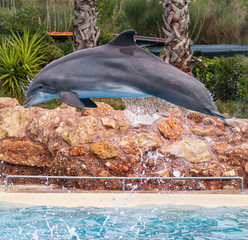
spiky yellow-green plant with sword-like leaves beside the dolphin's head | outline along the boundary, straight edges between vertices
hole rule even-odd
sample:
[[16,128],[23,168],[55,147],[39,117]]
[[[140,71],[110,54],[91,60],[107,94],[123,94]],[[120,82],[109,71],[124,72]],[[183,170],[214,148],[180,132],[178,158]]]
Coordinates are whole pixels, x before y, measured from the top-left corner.
[[0,45],[0,81],[3,93],[18,97],[28,85],[28,78],[34,78],[45,64],[44,36],[35,33],[30,36],[24,31],[23,37],[12,33],[3,38]]

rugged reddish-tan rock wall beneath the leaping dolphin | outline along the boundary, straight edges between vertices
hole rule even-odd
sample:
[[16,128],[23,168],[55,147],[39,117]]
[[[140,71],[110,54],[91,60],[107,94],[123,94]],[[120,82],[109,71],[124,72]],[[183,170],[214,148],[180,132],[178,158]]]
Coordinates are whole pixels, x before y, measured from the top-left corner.
[[[241,176],[248,184],[248,120],[233,125],[173,107],[149,126],[97,103],[24,109],[0,98],[0,173],[68,176]],[[21,180],[24,181],[24,180]],[[27,180],[26,180],[27,181]],[[121,189],[120,181],[54,181],[84,189]],[[129,181],[127,189],[233,189],[228,181]]]

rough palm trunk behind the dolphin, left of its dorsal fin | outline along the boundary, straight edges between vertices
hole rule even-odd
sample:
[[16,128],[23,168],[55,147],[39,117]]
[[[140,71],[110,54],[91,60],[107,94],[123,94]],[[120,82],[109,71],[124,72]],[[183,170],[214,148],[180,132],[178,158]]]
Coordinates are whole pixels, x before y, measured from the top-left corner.
[[74,51],[96,46],[100,35],[100,30],[96,26],[98,15],[96,4],[97,0],[74,0]]

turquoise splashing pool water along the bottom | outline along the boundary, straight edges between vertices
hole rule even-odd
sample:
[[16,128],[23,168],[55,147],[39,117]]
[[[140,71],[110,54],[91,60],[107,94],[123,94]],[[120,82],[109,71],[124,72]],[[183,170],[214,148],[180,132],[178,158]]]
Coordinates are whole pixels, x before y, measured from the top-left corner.
[[16,208],[0,204],[0,239],[248,239],[248,209]]

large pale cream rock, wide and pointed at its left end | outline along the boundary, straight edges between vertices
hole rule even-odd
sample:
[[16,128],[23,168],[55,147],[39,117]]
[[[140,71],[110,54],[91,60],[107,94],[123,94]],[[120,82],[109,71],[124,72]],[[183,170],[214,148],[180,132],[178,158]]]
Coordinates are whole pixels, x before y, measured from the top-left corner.
[[162,153],[168,153],[175,158],[185,158],[192,163],[211,160],[211,154],[203,140],[190,139],[175,142],[162,149]]

